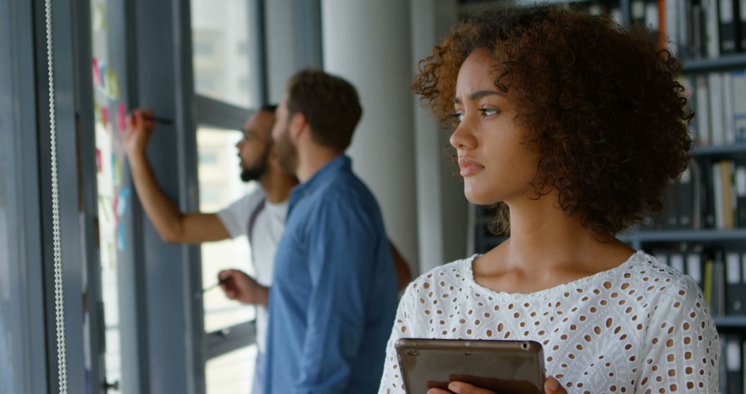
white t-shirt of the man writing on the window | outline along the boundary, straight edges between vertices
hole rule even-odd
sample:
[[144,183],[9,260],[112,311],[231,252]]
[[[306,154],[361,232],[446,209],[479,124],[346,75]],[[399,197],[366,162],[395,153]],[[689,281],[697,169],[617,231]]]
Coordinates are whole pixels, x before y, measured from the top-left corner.
[[[264,191],[259,188],[217,213],[225,229],[228,230],[228,234],[231,234],[231,238],[244,234],[248,237],[248,222],[262,201],[265,201],[265,195]],[[269,287],[272,284],[275,251],[285,230],[287,207],[288,201],[279,204],[265,201],[264,208],[254,219],[254,229],[251,240],[248,242],[251,244],[254,269],[257,272],[255,279],[262,286]],[[260,352],[263,352],[265,348],[267,322],[266,307],[257,306],[257,348]]]

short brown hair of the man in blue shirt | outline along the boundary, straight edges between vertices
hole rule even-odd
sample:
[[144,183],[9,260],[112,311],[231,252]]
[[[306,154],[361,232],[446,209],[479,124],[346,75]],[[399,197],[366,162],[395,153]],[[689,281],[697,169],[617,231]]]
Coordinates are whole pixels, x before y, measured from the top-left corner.
[[348,81],[317,69],[304,69],[287,84],[288,116],[303,113],[313,140],[345,151],[363,115],[357,90]]

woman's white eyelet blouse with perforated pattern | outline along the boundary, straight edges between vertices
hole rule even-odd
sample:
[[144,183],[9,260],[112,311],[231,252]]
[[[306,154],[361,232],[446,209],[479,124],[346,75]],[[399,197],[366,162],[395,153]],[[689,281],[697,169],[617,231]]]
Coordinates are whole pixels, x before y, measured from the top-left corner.
[[568,393],[717,393],[720,344],[702,292],[638,251],[615,269],[536,293],[474,282],[476,256],[407,287],[379,393],[404,393],[399,338],[534,340]]

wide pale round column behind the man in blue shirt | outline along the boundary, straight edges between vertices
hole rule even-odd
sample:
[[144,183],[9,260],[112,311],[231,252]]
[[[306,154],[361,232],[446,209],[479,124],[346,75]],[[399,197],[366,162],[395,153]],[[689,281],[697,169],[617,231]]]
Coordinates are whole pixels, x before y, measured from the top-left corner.
[[376,196],[389,238],[419,260],[410,7],[407,1],[322,1],[327,72],[357,87],[363,119],[348,154]]

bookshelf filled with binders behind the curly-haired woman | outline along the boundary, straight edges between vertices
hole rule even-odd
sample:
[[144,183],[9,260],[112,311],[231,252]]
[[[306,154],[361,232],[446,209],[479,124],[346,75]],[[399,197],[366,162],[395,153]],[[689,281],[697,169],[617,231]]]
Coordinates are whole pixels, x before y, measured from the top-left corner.
[[[460,2],[468,12],[480,10],[475,3],[536,4]],[[746,10],[739,9],[746,8],[746,0],[553,2],[589,13],[601,10],[626,25],[634,21],[645,22],[653,30],[659,26],[672,29],[665,31],[668,49],[682,61],[684,94],[695,111],[691,131],[697,143],[691,152],[689,178],[674,185],[662,216],[618,238],[696,277],[721,334],[721,392],[746,393]],[[727,17],[721,14],[724,8],[733,11],[734,20],[723,20]],[[648,20],[650,16],[659,16],[659,20]],[[659,23],[671,17],[676,20]],[[698,37],[692,37],[695,34]],[[483,208],[470,209],[474,217],[470,253],[484,253],[507,240],[487,230],[491,218]],[[692,267],[700,268],[694,272],[697,269]],[[733,307],[740,300],[743,307]],[[733,360],[740,362],[736,365]],[[741,383],[734,383],[733,374]]]

